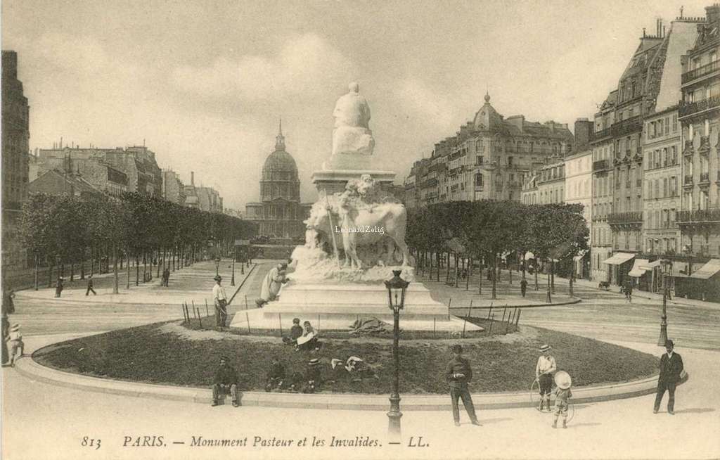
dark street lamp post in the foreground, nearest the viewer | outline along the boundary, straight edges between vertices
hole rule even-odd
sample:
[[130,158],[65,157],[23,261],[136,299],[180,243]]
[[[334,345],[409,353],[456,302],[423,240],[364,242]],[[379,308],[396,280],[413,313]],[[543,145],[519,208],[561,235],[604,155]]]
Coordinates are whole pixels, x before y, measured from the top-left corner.
[[392,394],[390,394],[390,412],[387,412],[388,433],[395,441],[400,441],[400,310],[405,307],[405,289],[410,284],[408,281],[400,278],[402,270],[393,270],[392,279],[385,281],[387,287],[387,297],[390,310],[392,310],[392,361],[394,366],[394,376],[392,379]]

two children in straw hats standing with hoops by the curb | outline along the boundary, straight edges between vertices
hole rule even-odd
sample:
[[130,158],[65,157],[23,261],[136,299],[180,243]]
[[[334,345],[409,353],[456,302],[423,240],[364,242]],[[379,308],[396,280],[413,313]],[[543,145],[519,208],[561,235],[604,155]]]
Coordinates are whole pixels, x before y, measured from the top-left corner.
[[[535,366],[535,379],[540,388],[540,405],[539,411],[543,411],[547,407],[548,412],[552,412],[550,408],[550,394],[555,394],[555,420],[552,428],[557,428],[557,419],[562,415],[562,428],[567,428],[567,408],[570,405],[572,397],[572,379],[570,374],[565,371],[558,371],[555,358],[550,354],[551,347],[543,345],[540,347],[541,355]],[[552,384],[556,387],[553,390]]]

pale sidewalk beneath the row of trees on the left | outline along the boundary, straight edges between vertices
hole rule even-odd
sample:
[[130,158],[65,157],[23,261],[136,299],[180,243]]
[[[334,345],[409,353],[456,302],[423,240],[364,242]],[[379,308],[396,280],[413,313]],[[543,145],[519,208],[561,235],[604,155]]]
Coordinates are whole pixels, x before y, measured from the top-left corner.
[[[243,280],[255,269],[253,263],[245,274],[241,274],[240,263],[235,263],[235,287],[230,286],[232,278],[232,262],[225,260],[220,263],[220,276],[222,285],[229,296],[235,293]],[[131,270],[131,274],[134,269]],[[142,271],[142,269],[140,270]],[[145,305],[179,305],[183,302],[195,305],[212,305],[212,287],[215,285],[215,261],[204,261],[194,263],[192,266],[184,267],[171,273],[168,287],[161,286],[160,278],[153,278],[152,281],[141,283],[135,286],[131,276],[130,289],[126,289],[127,276],[123,276],[118,283],[117,294],[112,293],[114,284],[113,274],[102,274],[93,276],[95,281],[95,292],[86,295],[86,280],[74,283],[66,283],[60,298],[55,297],[54,287],[45,287],[35,291],[27,289],[15,294],[16,302],[43,302],[43,303],[71,303],[71,304],[145,304]]]

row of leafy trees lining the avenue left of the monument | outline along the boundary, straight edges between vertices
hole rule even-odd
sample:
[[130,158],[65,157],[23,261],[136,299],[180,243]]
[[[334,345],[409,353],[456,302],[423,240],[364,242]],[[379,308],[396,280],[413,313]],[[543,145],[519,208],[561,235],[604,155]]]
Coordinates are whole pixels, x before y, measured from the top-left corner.
[[[251,238],[255,225],[237,217],[182,207],[164,199],[138,193],[124,194],[120,199],[107,195],[74,197],[71,195],[35,194],[24,204],[20,235],[26,248],[35,256],[37,267],[46,264],[48,286],[53,281],[53,267],[81,267],[90,271],[102,263],[106,271],[112,263],[118,289],[118,263],[127,265],[127,288],[130,287],[130,261],[135,261],[135,284],[148,279],[153,261],[163,261],[163,268],[194,263],[208,248],[214,256],[232,251],[235,239]],[[161,263],[157,263],[158,276]],[[150,277],[152,275],[150,274]]]

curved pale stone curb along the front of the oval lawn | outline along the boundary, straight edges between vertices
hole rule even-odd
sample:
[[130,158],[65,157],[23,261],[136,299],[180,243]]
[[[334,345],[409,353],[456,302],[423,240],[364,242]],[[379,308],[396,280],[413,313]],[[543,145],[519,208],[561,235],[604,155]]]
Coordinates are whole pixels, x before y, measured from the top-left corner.
[[[38,364],[32,358],[17,361],[15,369],[31,380],[70,387],[91,392],[120,394],[124,396],[147,397],[158,400],[175,400],[210,404],[210,389],[171,387],[159,384],[142,384],[101,379],[65,371],[50,369]],[[685,378],[687,380],[687,377]],[[683,382],[685,382],[683,380]],[[680,382],[680,383],[683,383]],[[652,394],[657,387],[657,376],[639,379],[633,382],[602,385],[597,387],[577,387],[573,389],[573,402],[588,403],[620,400],[629,397]],[[480,409],[510,409],[534,407],[529,392],[477,393],[472,395],[474,404]],[[294,407],[307,409],[333,410],[387,410],[388,397],[384,394],[297,394],[243,392],[241,405],[261,407]],[[442,410],[449,409],[450,401],[446,395],[403,395],[402,410]]]

